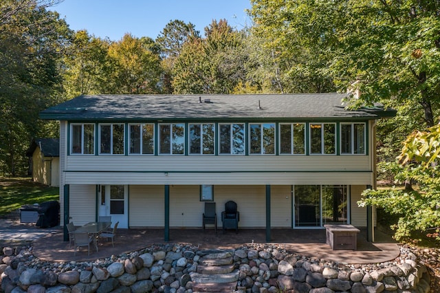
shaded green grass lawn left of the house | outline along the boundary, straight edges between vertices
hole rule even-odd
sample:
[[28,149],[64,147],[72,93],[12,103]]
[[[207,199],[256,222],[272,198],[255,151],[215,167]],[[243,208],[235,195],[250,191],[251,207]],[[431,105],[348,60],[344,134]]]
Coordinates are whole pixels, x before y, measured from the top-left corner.
[[50,187],[31,178],[0,177],[0,217],[17,211],[23,204],[41,204],[59,199],[58,187]]

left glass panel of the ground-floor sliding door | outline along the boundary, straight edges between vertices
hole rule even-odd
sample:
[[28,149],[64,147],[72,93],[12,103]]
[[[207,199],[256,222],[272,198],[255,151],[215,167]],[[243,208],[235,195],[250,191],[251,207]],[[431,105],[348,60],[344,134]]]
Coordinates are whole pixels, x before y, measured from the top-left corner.
[[319,185],[294,186],[295,227],[320,226],[320,190]]

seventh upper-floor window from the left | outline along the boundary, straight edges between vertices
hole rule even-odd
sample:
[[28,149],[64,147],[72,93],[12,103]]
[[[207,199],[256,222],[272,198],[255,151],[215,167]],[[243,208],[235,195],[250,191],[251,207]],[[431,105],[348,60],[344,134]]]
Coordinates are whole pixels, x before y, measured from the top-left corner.
[[275,155],[275,123],[250,124],[249,153]]

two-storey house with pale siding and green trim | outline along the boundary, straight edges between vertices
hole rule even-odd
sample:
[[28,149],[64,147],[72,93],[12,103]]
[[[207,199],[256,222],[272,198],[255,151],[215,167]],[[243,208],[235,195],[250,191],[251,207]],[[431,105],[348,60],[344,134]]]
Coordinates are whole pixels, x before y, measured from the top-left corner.
[[[356,202],[375,187],[375,121],[346,94],[78,96],[59,120],[64,223],[111,215],[122,228],[201,228],[204,202],[239,228],[371,227]],[[367,221],[368,220],[368,221]],[[372,229],[371,229],[372,230]]]

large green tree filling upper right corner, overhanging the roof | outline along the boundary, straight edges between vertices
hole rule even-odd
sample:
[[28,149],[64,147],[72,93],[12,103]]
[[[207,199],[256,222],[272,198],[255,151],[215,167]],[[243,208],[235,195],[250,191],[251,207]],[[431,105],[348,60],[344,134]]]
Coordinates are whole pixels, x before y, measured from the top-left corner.
[[434,0],[253,0],[251,15],[255,33],[267,36],[265,46],[280,61],[281,76],[289,70],[292,80],[305,75],[312,84],[330,79],[339,91],[358,89],[353,107],[415,100],[432,126],[439,104],[439,9]]

